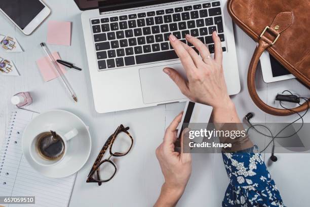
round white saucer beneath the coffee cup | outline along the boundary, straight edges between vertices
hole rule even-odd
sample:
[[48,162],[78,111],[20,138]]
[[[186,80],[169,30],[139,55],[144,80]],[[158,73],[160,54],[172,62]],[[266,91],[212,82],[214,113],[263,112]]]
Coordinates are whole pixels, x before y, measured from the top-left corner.
[[[67,132],[72,128],[76,128],[79,133],[69,141],[68,151],[59,163],[43,166],[31,158],[29,146],[38,133],[49,130]],[[29,165],[50,178],[63,178],[79,171],[88,160],[91,147],[91,136],[85,123],[78,116],[63,110],[52,110],[36,116],[25,128],[22,136],[22,150]]]

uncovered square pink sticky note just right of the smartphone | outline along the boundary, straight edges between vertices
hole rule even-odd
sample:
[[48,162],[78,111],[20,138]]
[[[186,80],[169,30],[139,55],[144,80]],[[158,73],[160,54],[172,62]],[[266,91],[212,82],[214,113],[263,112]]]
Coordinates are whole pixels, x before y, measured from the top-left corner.
[[47,43],[69,46],[71,44],[71,22],[49,21]]

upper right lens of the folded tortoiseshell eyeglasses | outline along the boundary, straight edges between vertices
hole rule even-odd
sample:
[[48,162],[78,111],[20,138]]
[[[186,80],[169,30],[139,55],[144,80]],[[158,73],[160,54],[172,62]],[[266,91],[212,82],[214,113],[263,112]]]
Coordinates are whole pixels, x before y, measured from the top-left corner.
[[125,132],[120,132],[111,146],[111,152],[114,155],[124,155],[128,153],[128,151],[131,148],[131,145],[132,145],[131,137]]

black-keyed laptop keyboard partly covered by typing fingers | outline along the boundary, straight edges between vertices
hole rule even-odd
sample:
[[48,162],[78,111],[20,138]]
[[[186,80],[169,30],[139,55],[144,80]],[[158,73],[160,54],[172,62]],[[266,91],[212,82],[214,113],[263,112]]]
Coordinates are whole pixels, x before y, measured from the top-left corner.
[[190,47],[185,35],[197,37],[214,53],[216,30],[226,51],[219,1],[94,18],[91,24],[99,71],[178,58],[168,40],[171,33]]

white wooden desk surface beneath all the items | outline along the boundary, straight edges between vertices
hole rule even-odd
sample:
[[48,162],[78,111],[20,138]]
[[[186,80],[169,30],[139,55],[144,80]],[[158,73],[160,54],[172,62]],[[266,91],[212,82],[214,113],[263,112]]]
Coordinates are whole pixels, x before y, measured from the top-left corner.
[[[14,28],[7,19],[0,16],[1,32],[16,37],[25,52],[5,53],[0,50],[0,56],[12,59],[21,76],[0,76],[0,143],[5,136],[9,112],[13,109],[10,98],[16,92],[30,91],[33,104],[27,109],[45,112],[51,109],[63,109],[80,116],[89,126],[93,147],[87,164],[78,172],[70,206],[150,206],[157,199],[163,177],[156,160],[155,149],[162,142],[165,128],[184,106],[184,103],[174,103],[146,109],[98,114],[94,109],[90,77],[87,68],[87,58],[81,25],[81,11],[73,0],[46,1],[52,9],[51,16],[31,36],[24,36]],[[69,70],[66,74],[79,97],[74,103],[63,86],[57,80],[44,82],[37,69],[35,60],[43,56],[39,44],[46,41],[47,22],[49,20],[71,21],[72,41],[70,47],[50,46],[52,51],[58,51],[64,60],[81,66],[84,70],[78,72]],[[248,112],[254,112],[253,122],[291,122],[296,116],[274,117],[261,112],[252,102],[246,85],[247,69],[255,43],[241,29],[235,27],[238,63],[242,91],[232,97],[236,103],[240,117]],[[229,69],[228,69],[229,70]],[[265,84],[258,73],[258,92],[263,100],[273,103],[275,94],[291,89],[300,95],[308,96],[309,91],[295,80]],[[310,122],[310,114],[304,118]],[[108,183],[98,187],[87,184],[88,172],[106,141],[107,137],[119,124],[131,127],[135,143],[132,151],[126,157],[116,160],[117,175]],[[288,206],[304,206],[308,203],[307,176],[310,167],[310,154],[277,154],[279,161],[269,167],[282,197]],[[269,157],[266,156],[265,159]],[[194,154],[193,172],[188,187],[179,206],[219,206],[228,185],[228,179],[220,154]],[[298,203],[296,203],[298,201]]]

